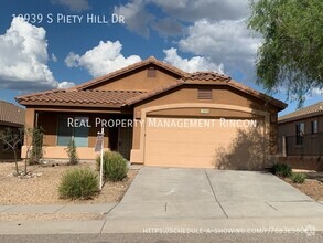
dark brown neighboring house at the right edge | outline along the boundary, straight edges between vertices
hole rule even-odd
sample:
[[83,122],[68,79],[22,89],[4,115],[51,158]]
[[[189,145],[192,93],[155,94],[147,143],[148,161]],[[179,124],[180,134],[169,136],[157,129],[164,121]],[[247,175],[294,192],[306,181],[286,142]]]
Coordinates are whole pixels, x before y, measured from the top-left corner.
[[323,169],[323,102],[279,117],[281,161],[293,168]]

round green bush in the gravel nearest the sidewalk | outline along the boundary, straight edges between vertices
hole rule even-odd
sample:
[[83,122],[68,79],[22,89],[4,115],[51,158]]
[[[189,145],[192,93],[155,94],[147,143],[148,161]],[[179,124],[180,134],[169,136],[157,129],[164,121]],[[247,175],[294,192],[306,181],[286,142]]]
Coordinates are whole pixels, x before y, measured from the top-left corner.
[[89,168],[67,170],[58,186],[60,198],[90,199],[98,192],[98,176]]

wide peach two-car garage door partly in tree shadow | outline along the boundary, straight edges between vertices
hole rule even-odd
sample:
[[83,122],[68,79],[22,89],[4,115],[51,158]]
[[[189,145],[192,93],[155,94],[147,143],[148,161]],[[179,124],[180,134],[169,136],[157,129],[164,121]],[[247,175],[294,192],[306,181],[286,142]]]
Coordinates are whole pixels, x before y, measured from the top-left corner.
[[149,117],[146,124],[144,163],[214,168],[219,166],[217,163],[222,157],[248,160],[255,150],[254,146],[259,148],[259,142],[263,142],[263,122],[256,123],[251,119],[224,122],[224,118]]

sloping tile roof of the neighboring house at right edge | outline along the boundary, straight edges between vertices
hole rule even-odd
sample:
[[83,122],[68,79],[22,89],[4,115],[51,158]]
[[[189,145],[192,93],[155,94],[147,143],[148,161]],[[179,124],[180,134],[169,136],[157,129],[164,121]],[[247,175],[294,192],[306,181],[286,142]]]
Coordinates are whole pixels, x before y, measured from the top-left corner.
[[298,120],[306,117],[312,117],[316,115],[323,115],[323,102],[319,102],[314,105],[298,109],[297,112],[283,115],[278,118],[279,123],[287,123],[292,120]]

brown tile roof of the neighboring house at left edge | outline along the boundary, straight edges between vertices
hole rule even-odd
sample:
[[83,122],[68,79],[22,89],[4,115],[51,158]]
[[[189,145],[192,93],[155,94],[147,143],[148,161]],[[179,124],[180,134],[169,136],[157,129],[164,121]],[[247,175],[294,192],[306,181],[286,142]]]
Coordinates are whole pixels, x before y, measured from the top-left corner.
[[0,101],[0,124],[23,125],[24,109],[8,102]]

